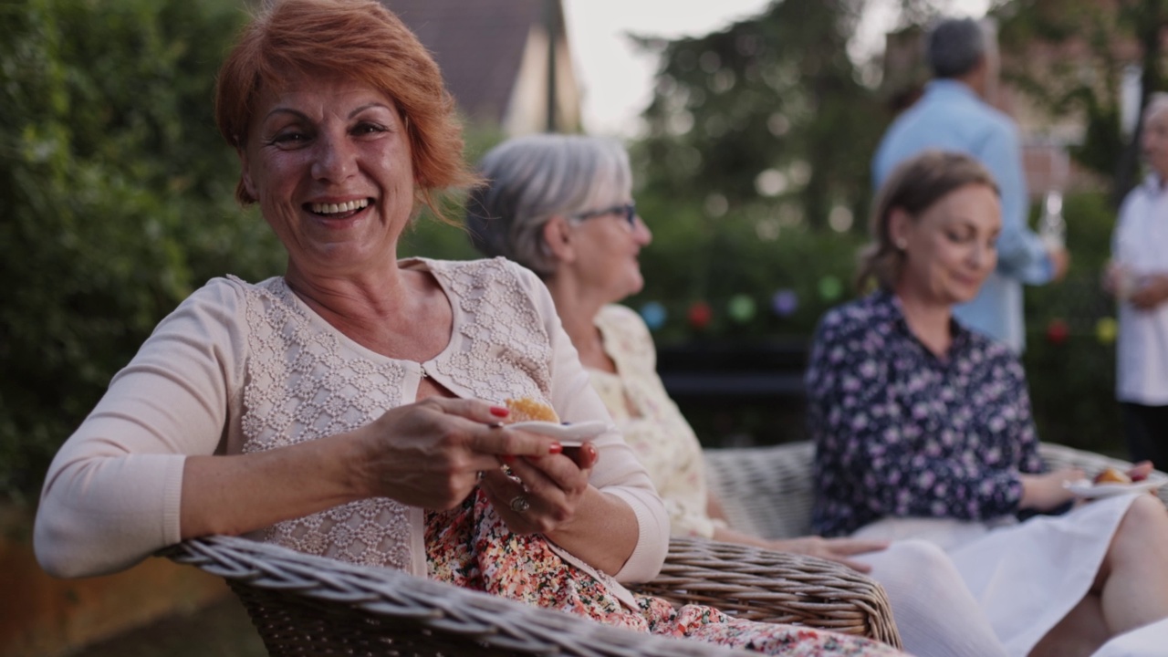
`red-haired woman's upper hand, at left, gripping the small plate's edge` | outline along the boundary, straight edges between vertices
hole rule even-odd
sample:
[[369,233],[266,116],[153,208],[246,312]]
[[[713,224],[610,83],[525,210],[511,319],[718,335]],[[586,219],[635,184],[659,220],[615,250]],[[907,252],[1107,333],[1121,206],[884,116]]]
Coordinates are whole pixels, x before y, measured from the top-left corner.
[[357,430],[354,463],[364,497],[452,509],[478,485],[479,472],[499,472],[502,461],[516,456],[552,457],[554,440],[499,428],[507,414],[484,401],[438,396],[387,412]]

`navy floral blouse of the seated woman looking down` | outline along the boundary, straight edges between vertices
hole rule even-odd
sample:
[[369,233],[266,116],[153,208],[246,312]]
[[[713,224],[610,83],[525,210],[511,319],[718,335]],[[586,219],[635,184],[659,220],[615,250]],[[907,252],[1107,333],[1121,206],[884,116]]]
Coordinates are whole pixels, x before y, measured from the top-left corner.
[[938,358],[885,291],[823,316],[807,369],[820,534],[1017,511],[1018,473],[1042,471],[1026,374],[1004,345],[952,331]]

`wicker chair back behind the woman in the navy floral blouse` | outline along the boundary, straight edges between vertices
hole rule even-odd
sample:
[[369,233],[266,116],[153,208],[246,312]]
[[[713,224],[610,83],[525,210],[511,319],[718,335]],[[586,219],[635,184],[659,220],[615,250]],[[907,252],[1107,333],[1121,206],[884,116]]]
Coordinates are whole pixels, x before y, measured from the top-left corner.
[[[809,441],[705,450],[710,490],[730,525],[765,538],[811,534],[814,454]],[[1073,465],[1094,473],[1108,465],[1131,466],[1126,461],[1054,443],[1042,443],[1040,454],[1052,469]],[[1168,489],[1160,489],[1159,495],[1168,504]]]

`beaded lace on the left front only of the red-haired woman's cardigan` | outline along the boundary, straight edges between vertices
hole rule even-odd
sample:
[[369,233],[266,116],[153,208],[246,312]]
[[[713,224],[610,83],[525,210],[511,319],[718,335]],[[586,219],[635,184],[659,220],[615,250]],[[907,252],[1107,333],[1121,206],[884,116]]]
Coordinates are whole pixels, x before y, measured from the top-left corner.
[[[313,326],[283,279],[248,286],[244,452],[368,424],[401,406],[405,369],[374,362]],[[408,507],[389,498],[334,506],[266,528],[265,541],[366,566],[410,568]]]

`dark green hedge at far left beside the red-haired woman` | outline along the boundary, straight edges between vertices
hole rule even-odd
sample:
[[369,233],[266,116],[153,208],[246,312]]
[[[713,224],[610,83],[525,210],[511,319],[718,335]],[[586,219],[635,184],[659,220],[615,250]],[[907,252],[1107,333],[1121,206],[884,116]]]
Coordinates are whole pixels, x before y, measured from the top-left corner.
[[60,443],[155,323],[211,276],[278,271],[231,201],[211,85],[231,0],[0,6],[0,496]]

